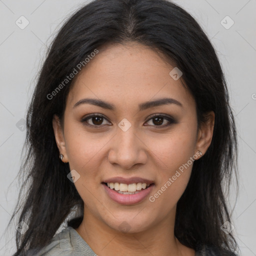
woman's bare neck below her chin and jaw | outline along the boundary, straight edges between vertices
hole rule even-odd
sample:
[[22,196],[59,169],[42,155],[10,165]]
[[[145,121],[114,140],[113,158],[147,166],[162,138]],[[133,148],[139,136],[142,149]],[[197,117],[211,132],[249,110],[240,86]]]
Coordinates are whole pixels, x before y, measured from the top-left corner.
[[174,220],[175,214],[172,214],[146,230],[121,232],[85,209],[83,220],[75,230],[99,256],[194,256],[195,251],[181,244],[174,236]]

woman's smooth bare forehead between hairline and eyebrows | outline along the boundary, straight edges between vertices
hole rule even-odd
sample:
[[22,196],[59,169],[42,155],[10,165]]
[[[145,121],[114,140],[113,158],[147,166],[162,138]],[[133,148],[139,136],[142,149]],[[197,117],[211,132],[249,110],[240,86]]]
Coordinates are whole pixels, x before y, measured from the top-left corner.
[[160,52],[140,43],[106,45],[77,74],[67,103],[89,96],[123,105],[169,96],[194,106],[182,77],[169,75],[173,68]]

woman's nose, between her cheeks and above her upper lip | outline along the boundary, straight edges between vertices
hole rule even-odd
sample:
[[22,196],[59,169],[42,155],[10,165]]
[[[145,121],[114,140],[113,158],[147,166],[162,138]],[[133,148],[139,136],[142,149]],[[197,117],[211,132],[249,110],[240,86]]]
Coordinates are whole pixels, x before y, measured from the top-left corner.
[[131,127],[123,131],[117,128],[117,134],[111,140],[108,161],[118,164],[123,169],[130,169],[133,165],[145,164],[147,160],[146,145],[139,137],[139,133]]

